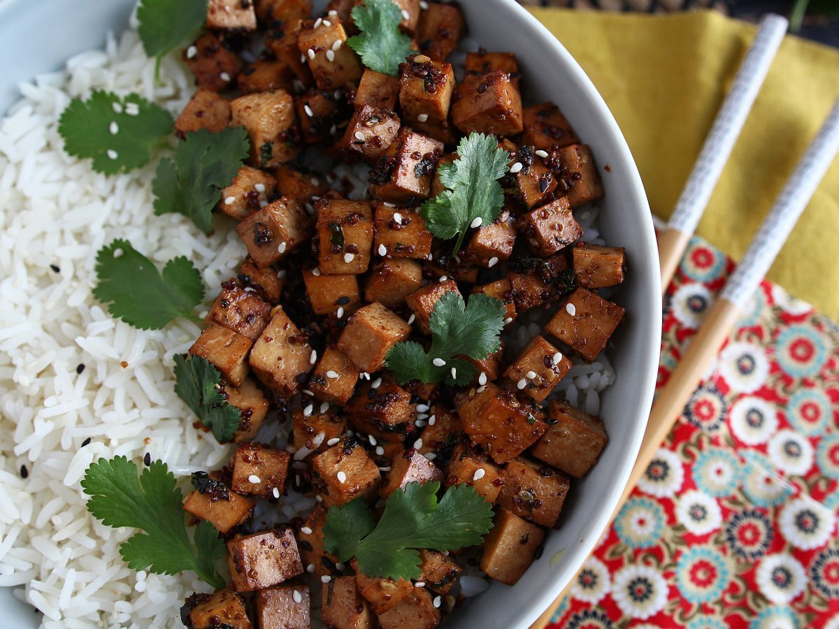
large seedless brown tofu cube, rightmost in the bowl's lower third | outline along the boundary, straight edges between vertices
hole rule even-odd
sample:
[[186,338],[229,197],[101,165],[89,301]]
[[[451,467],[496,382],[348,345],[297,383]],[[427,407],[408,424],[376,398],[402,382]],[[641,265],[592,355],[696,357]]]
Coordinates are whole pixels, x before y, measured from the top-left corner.
[[606,447],[602,421],[567,402],[551,402],[550,418],[555,424],[548,426],[531,454],[575,478],[586,476]]

